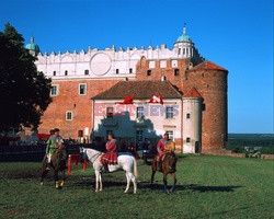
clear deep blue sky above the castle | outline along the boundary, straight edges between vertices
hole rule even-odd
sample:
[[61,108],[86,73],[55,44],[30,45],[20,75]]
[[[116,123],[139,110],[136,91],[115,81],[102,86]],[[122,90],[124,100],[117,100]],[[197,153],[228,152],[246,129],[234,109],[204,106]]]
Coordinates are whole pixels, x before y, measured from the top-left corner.
[[43,53],[167,44],[187,33],[229,70],[229,132],[273,132],[272,0],[1,0],[10,22]]

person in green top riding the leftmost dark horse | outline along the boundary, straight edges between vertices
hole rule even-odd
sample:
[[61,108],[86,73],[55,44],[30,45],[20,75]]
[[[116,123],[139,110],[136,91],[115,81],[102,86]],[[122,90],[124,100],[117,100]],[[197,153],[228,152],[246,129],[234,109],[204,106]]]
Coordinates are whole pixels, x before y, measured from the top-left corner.
[[47,170],[49,170],[52,155],[55,149],[58,148],[58,145],[64,143],[62,137],[59,134],[60,134],[60,130],[58,128],[55,128],[54,135],[52,135],[49,139],[47,140],[47,150],[46,150]]

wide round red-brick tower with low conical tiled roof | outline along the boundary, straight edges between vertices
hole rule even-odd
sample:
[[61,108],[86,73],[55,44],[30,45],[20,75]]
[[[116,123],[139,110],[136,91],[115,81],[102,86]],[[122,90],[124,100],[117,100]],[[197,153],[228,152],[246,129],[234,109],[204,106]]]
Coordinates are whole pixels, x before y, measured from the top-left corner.
[[228,71],[204,61],[186,71],[184,88],[195,87],[204,99],[202,113],[202,152],[219,153],[227,141]]

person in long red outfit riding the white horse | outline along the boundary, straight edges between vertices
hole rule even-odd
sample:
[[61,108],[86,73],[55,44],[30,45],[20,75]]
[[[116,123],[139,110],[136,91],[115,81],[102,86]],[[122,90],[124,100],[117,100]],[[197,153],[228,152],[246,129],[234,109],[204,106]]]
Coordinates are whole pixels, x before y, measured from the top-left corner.
[[104,165],[105,172],[110,172],[107,165],[117,164],[117,145],[114,135],[109,134],[107,140],[109,141],[105,143],[105,149],[107,152],[102,155],[102,163]]

